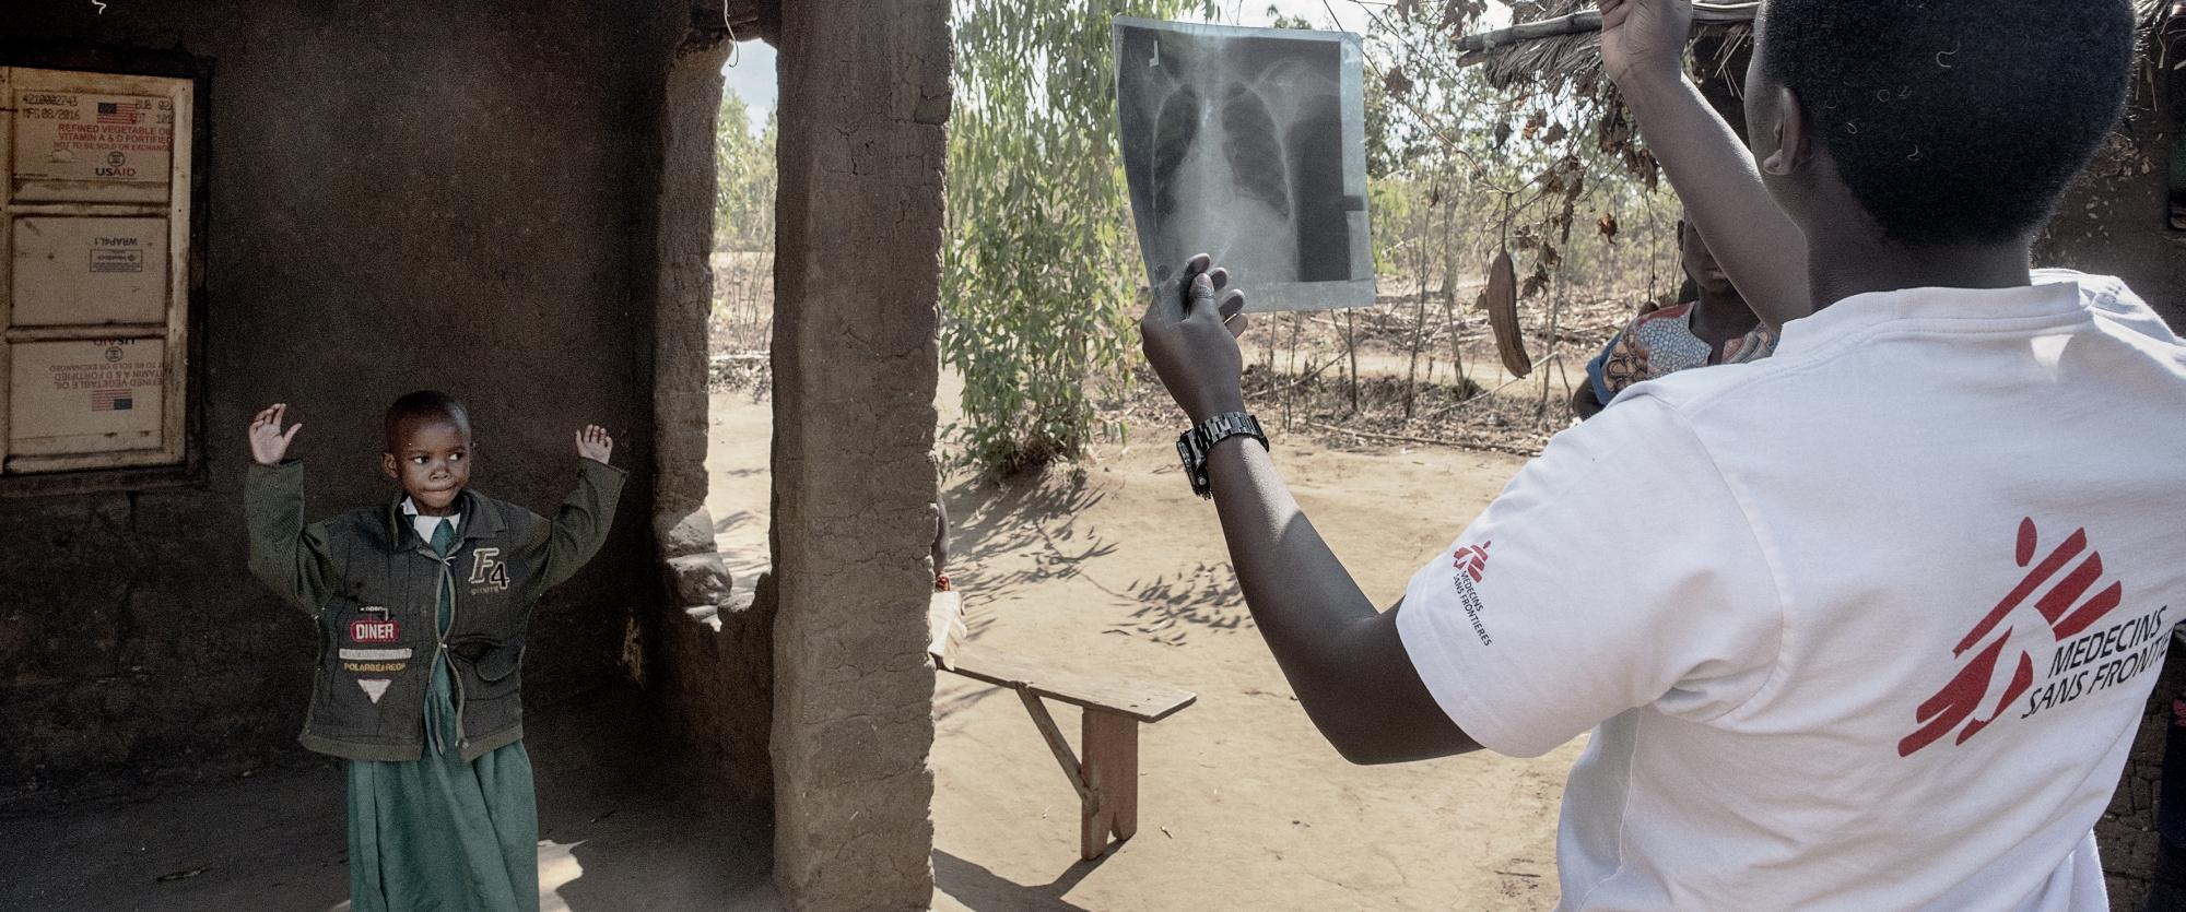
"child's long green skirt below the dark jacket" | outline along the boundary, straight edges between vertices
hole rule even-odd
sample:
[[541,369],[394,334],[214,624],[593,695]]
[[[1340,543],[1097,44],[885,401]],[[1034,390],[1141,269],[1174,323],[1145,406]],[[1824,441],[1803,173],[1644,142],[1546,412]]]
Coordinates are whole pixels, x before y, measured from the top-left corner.
[[531,755],[516,742],[466,764],[446,674],[446,665],[433,670],[426,696],[426,720],[442,729],[446,751],[350,761],[352,912],[540,908]]

